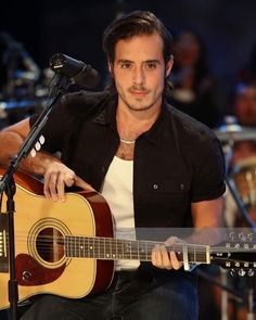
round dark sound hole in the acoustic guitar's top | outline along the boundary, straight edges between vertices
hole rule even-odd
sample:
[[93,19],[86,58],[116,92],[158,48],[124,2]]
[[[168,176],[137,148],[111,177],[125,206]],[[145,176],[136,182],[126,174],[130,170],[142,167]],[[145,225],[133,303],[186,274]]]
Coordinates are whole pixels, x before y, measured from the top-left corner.
[[36,247],[44,261],[57,263],[64,256],[63,234],[54,228],[46,228],[38,233]]

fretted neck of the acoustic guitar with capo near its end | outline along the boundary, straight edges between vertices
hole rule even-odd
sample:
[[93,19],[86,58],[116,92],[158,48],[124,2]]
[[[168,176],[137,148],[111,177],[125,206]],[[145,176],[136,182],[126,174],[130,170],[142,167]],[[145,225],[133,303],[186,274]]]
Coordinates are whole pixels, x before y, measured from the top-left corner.
[[[151,253],[156,244],[164,243],[73,235],[66,235],[64,239],[66,257],[106,260],[151,261]],[[167,247],[167,251],[174,251],[180,261],[183,261],[185,253],[189,263],[209,264],[209,246],[207,245],[176,243],[171,247]]]

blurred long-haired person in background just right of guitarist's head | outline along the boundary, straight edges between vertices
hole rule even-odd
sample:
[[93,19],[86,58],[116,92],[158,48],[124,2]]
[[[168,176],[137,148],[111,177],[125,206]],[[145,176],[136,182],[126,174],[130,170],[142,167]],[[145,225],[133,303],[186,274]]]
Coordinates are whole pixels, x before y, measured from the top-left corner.
[[208,127],[216,127],[226,94],[208,69],[203,40],[195,31],[184,29],[175,37],[174,53],[170,103]]

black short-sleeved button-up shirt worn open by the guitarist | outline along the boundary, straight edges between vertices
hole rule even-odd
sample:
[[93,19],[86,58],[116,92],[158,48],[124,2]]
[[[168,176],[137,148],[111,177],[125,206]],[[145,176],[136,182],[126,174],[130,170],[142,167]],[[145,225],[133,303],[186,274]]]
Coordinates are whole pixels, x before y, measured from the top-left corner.
[[[119,145],[116,105],[116,97],[107,92],[71,93],[43,129],[43,149],[60,151],[62,161],[98,191]],[[191,203],[219,197],[223,181],[222,150],[215,135],[164,102],[155,124],[135,145],[136,227],[192,227]]]

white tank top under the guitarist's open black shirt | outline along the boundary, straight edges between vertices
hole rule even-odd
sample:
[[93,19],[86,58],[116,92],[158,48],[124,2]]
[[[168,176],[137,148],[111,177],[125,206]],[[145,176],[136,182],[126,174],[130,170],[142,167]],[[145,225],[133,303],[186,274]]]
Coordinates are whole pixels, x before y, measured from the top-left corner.
[[[115,221],[116,239],[136,239],[133,210],[133,161],[114,156],[102,187]],[[139,267],[138,260],[117,260],[116,270],[131,270]]]

